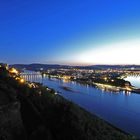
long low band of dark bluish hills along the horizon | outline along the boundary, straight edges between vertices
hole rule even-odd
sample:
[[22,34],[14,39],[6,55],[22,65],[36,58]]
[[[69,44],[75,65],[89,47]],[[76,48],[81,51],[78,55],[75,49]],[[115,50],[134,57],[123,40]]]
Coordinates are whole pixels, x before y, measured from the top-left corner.
[[79,68],[79,69],[140,69],[140,65],[91,65],[91,66],[69,66],[69,65],[58,65],[58,64],[14,64],[10,67],[18,69],[27,69],[38,71],[40,69],[60,69],[60,68]]

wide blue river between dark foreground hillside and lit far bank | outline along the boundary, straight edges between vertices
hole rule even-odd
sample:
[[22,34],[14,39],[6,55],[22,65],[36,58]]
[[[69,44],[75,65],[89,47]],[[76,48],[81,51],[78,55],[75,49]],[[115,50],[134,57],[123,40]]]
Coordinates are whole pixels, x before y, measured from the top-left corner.
[[[48,77],[41,79],[41,76],[32,81],[43,82],[44,85],[60,91],[64,98],[73,101],[90,113],[125,132],[140,137],[140,94],[105,92],[72,81],[66,82]],[[70,87],[71,90],[65,90],[62,86]]]

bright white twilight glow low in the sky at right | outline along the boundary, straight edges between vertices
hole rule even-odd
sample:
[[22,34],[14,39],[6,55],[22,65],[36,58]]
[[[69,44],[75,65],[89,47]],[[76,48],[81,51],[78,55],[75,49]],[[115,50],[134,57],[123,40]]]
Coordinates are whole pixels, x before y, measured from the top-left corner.
[[77,60],[84,64],[140,64],[140,40],[96,47],[82,52]]

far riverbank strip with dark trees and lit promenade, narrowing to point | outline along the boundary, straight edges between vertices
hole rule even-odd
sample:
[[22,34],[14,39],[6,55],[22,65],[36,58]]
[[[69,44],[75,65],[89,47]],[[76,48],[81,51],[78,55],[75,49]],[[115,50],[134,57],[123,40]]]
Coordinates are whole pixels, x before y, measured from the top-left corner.
[[[48,76],[51,79],[51,75]],[[59,78],[59,77],[55,77],[53,76],[52,78],[56,78],[56,79],[60,79],[60,80],[64,80],[65,82],[68,81],[74,81],[83,85],[89,85],[92,86],[94,88],[99,88],[101,90],[105,90],[105,91],[111,91],[111,92],[120,92],[120,91],[125,91],[125,92],[140,92],[140,90],[136,89],[135,87],[131,86],[131,83],[129,81],[125,81],[123,79],[111,79],[110,81],[106,81],[104,79],[96,79],[95,81],[91,81],[89,79],[85,80],[85,79],[63,79],[63,78]],[[126,86],[126,83],[129,84],[128,86]],[[68,89],[66,89],[68,90]]]

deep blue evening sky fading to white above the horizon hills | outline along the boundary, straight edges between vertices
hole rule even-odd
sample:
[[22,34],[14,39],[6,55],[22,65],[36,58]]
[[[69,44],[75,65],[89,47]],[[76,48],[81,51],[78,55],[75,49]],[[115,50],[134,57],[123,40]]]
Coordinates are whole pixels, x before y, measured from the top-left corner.
[[[133,47],[140,50],[139,37],[139,0],[0,1],[2,62],[140,64],[138,58],[124,59]],[[131,49],[117,60],[111,55],[117,47]],[[100,52],[110,57],[99,60]]]

